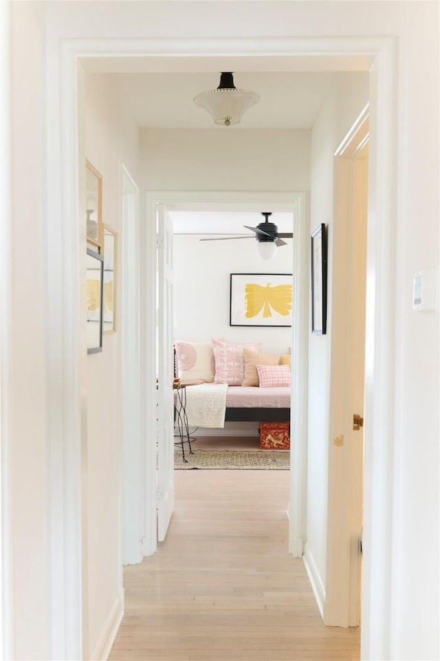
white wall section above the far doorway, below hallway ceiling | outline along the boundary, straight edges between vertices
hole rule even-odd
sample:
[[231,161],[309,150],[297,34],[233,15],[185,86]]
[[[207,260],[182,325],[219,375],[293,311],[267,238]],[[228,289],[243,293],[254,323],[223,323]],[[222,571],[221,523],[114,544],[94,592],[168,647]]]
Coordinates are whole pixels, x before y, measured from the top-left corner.
[[142,184],[149,190],[309,189],[309,131],[217,127],[140,135]]

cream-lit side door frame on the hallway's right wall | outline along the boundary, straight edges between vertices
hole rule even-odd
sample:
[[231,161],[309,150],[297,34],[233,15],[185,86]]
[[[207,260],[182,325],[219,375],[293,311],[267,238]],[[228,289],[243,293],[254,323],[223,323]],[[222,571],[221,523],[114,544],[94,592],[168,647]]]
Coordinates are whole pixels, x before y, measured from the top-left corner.
[[[358,129],[353,126],[347,132],[344,138],[347,147],[343,154],[335,155],[333,170],[333,208],[338,219],[333,222],[333,231],[338,233],[340,240],[335,242],[338,253],[333,255],[333,262],[337,262],[339,268],[338,273],[333,274],[332,325],[336,324],[338,333],[333,333],[331,347],[327,585],[322,614],[326,625],[338,627],[360,624],[364,429],[353,431],[353,413],[364,417],[364,401],[358,397],[354,404],[353,395],[360,395],[361,380],[364,390],[365,368],[364,359],[361,360],[355,352],[350,338],[353,328],[357,329],[357,337],[365,346],[365,337],[361,337],[362,333],[365,334],[361,309],[365,307],[365,295],[354,300],[352,285],[366,277],[366,263],[359,256],[358,247],[365,246],[365,242],[362,240],[356,244],[353,240],[353,218],[368,215],[366,200],[359,198],[355,186],[362,168],[366,193],[368,162],[366,165],[361,163],[368,161],[368,156],[360,156],[357,150],[364,138],[368,138],[368,129],[369,109],[366,108],[362,125]],[[367,218],[364,222],[362,231],[366,231]],[[366,255],[362,259],[366,260]]]

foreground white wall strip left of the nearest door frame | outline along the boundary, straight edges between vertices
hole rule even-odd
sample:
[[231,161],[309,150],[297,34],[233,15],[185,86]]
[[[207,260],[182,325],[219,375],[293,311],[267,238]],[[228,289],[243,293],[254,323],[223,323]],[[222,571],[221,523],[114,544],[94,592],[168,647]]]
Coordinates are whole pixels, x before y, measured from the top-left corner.
[[2,384],[2,421],[8,425],[8,434],[2,439],[1,461],[3,522],[8,524],[3,529],[3,548],[9,563],[5,565],[4,614],[13,628],[5,631],[4,658],[46,659],[50,650],[50,483],[43,251],[45,6],[11,3],[11,19],[12,227],[8,247],[12,270],[10,308],[1,311],[3,324],[8,319],[10,329],[8,373],[3,373],[7,381]]

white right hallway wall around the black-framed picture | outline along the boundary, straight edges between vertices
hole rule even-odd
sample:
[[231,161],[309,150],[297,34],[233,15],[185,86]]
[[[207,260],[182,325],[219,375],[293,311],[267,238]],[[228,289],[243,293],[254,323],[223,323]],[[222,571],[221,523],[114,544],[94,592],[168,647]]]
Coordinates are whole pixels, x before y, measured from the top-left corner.
[[[345,74],[323,103],[311,136],[310,231],[327,226],[327,334],[309,335],[309,448],[307,457],[306,556],[325,601],[327,583],[327,506],[331,401],[334,151],[369,98],[368,78]],[[335,364],[338,356],[334,356]]]

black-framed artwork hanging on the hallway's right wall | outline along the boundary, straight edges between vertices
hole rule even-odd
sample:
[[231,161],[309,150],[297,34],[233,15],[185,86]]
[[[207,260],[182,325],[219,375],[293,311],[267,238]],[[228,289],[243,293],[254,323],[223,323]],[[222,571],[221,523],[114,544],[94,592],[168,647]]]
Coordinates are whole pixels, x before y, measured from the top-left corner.
[[311,332],[327,331],[327,238],[321,223],[311,235]]

